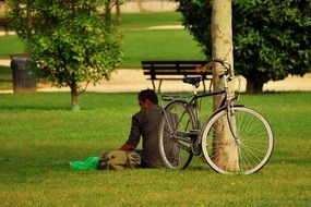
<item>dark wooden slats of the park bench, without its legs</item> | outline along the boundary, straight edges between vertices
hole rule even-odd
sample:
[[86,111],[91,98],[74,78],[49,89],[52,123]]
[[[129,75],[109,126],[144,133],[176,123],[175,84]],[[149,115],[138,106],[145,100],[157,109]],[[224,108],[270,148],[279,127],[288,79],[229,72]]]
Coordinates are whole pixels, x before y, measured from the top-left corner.
[[152,80],[156,78],[156,75],[202,75],[206,78],[206,75],[212,75],[212,71],[202,72],[196,70],[206,64],[206,61],[184,60],[184,61],[142,61],[142,68],[145,75],[149,75]]

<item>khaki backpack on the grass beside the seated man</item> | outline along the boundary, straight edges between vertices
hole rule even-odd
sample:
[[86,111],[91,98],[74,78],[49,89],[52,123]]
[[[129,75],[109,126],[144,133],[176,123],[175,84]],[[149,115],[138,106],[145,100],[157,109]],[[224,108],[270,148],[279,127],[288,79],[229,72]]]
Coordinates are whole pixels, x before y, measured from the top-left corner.
[[141,156],[135,151],[110,150],[99,159],[98,170],[135,169],[141,163]]

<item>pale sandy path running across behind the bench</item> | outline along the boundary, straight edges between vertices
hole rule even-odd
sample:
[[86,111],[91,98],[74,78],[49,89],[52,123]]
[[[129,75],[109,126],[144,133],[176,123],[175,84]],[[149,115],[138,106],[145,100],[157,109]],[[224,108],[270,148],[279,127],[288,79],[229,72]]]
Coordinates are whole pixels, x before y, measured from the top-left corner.
[[[0,60],[0,65],[10,65],[10,60]],[[158,82],[156,83],[158,84]],[[207,85],[208,83],[206,83]],[[151,81],[146,80],[141,69],[119,69],[111,76],[111,80],[101,81],[96,86],[89,84],[87,92],[140,92],[145,88],[153,88]],[[203,89],[203,87],[200,87]],[[246,89],[246,81],[241,81],[241,92]],[[263,89],[274,92],[286,90],[311,90],[311,74],[304,77],[288,76],[284,81],[268,82]],[[38,92],[69,92],[69,88],[50,87],[49,85],[38,84]],[[190,92],[191,86],[181,82],[164,81],[162,92]],[[12,90],[0,90],[0,93],[12,93]]]

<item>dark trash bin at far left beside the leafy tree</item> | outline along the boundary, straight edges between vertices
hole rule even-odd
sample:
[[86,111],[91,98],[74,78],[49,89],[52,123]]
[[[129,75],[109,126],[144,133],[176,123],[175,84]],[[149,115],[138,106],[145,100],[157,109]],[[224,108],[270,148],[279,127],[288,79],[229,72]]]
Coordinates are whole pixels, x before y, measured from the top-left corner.
[[13,57],[11,61],[13,72],[14,94],[32,94],[37,90],[36,76],[31,73],[29,58],[25,56]]

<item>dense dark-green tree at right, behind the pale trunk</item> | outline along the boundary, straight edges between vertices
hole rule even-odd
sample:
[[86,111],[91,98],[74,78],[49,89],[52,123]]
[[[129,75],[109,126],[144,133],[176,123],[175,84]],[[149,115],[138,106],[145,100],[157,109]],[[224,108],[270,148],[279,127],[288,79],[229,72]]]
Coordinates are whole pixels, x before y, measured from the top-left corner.
[[[212,1],[177,1],[183,25],[211,58]],[[310,70],[311,0],[234,0],[232,11],[235,70],[247,78],[247,93]]]

